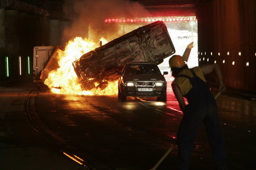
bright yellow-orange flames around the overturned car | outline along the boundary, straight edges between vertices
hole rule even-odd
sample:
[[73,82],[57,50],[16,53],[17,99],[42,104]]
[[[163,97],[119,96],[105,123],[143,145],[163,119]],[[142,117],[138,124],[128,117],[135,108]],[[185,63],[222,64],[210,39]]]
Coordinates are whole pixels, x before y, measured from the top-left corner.
[[[106,44],[106,40],[101,38],[103,44]],[[71,94],[71,95],[116,95],[117,94],[117,82],[109,82],[108,87],[104,90],[93,89],[90,91],[83,91],[81,84],[77,78],[77,75],[73,69],[72,63],[76,59],[79,59],[82,54],[89,52],[97,48],[95,42],[76,37],[68,42],[65,50],[58,53],[57,60],[59,68],[52,70],[48,74],[48,78],[44,81],[51,92],[55,94]]]

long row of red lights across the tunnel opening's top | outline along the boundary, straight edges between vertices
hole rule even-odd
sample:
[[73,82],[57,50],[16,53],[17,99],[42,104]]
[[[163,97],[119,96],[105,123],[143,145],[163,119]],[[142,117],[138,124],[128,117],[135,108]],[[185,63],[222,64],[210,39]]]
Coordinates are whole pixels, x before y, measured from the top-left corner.
[[105,19],[105,23],[137,23],[137,22],[155,22],[162,20],[163,22],[187,22],[187,21],[196,21],[195,17],[185,17],[185,18],[142,18],[142,19],[121,19],[121,18],[109,18]]

